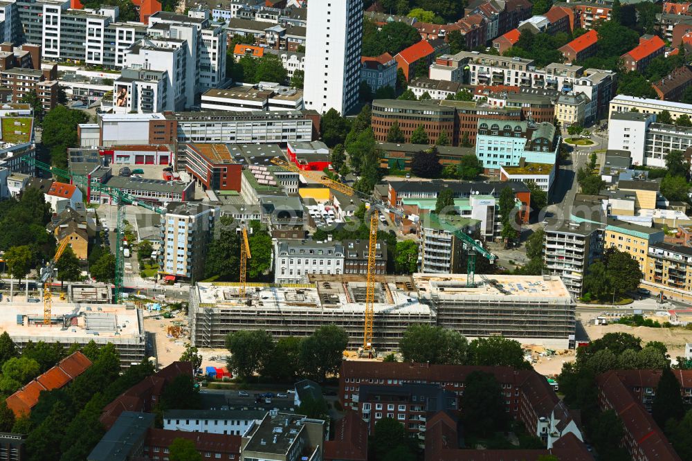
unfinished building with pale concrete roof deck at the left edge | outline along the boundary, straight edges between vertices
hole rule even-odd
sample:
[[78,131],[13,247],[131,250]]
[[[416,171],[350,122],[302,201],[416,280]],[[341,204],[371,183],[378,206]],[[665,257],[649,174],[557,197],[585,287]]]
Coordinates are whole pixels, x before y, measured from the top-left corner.
[[42,304],[13,302],[0,309],[0,328],[20,349],[29,341],[60,343],[65,348],[94,341],[98,345],[113,343],[124,367],[145,357],[142,311],[134,306],[87,306],[54,301],[50,323],[46,325]]

